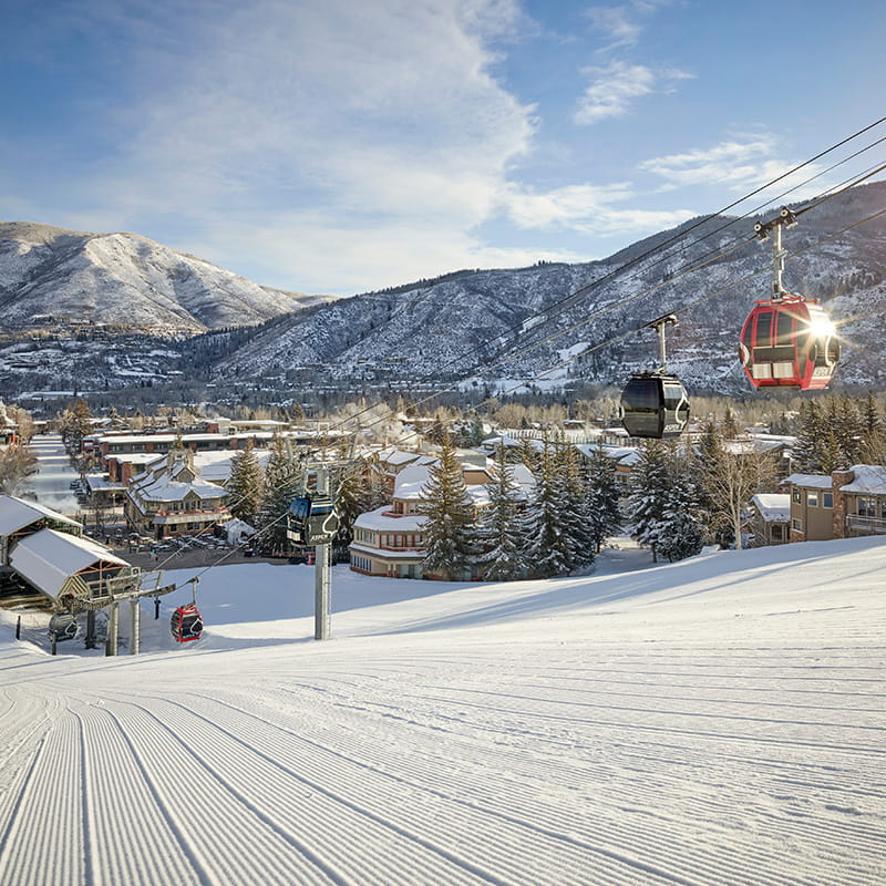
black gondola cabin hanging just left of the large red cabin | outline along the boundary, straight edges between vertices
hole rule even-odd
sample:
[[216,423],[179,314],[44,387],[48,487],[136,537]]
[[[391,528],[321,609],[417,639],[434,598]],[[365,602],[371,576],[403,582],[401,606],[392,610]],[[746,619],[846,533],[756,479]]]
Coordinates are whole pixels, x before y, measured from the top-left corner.
[[638,372],[621,392],[621,423],[637,437],[669,440],[689,422],[689,398],[677,375]]

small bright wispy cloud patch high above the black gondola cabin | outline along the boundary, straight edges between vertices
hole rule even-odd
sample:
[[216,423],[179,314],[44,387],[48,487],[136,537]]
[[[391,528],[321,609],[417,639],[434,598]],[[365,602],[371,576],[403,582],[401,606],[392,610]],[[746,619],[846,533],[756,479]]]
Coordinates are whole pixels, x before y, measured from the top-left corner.
[[573,122],[585,126],[622,116],[638,99],[667,92],[674,82],[692,76],[672,68],[653,70],[624,61],[614,61],[604,68],[586,68],[583,73],[591,82],[578,101]]

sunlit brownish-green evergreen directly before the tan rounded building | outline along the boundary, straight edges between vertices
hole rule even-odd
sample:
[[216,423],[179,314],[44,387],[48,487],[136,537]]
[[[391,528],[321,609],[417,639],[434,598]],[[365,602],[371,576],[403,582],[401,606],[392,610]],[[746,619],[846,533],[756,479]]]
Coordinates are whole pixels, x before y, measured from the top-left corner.
[[425,519],[425,573],[452,580],[461,577],[474,553],[474,508],[464,483],[464,471],[449,434],[443,435],[440,460],[431,467],[419,509]]

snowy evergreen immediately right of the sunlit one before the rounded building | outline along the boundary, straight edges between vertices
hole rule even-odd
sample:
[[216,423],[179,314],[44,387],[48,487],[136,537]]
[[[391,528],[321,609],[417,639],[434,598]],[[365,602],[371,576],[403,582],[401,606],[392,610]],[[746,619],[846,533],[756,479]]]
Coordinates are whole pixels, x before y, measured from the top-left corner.
[[483,553],[476,562],[486,578],[511,581],[527,567],[528,552],[524,503],[502,444],[498,446],[493,482],[486,491],[490,505],[481,516],[477,532],[477,543]]

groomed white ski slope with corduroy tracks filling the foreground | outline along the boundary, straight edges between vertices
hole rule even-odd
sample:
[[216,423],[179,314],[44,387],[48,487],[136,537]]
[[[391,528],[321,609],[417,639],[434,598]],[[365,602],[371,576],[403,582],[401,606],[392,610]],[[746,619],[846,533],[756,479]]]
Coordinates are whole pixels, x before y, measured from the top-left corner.
[[3,612],[0,884],[886,883],[886,540],[626,556],[336,567],[324,642],[305,566],[206,573],[189,648],[143,605],[138,657]]

